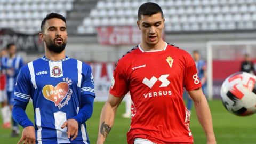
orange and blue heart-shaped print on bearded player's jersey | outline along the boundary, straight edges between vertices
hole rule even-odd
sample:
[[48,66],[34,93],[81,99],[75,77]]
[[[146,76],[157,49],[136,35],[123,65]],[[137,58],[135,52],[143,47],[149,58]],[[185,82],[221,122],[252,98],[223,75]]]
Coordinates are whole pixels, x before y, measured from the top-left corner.
[[52,101],[55,106],[59,109],[68,105],[68,101],[71,99],[72,89],[70,89],[69,85],[71,85],[72,81],[68,78],[63,78],[63,82],[58,83],[55,86],[45,85],[42,89],[42,93],[44,98]]

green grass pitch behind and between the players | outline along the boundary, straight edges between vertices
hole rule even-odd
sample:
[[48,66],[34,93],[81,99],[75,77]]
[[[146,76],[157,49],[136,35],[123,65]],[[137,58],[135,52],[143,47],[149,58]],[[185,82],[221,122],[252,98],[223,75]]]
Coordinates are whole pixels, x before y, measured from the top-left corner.
[[[238,117],[229,113],[223,106],[220,100],[209,101],[211,113],[213,117],[213,127],[217,143],[232,143],[232,144],[253,144],[256,143],[256,114],[247,117]],[[98,125],[100,111],[103,106],[102,102],[94,103],[94,111],[87,124],[89,139],[92,144],[96,143],[98,135]],[[117,111],[114,127],[112,128],[106,144],[126,143],[126,132],[130,126],[130,119],[122,118],[124,113],[124,103],[122,103]],[[27,107],[27,114],[32,119],[34,117],[31,103]],[[34,122],[34,121],[33,121]],[[0,120],[2,125],[2,118]],[[192,111],[190,129],[194,136],[194,143],[206,143],[206,138],[203,129],[199,125],[195,113]],[[22,132],[22,129],[21,129]],[[11,138],[11,130],[0,127],[0,143],[17,143],[20,137]]]

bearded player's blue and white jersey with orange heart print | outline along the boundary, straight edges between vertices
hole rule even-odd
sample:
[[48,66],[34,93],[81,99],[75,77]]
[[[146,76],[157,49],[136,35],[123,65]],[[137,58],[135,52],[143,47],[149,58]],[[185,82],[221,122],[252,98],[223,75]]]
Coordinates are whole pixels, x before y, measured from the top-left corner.
[[95,97],[89,65],[66,57],[51,61],[42,57],[21,68],[14,91],[15,99],[33,100],[36,143],[89,143],[86,125],[70,141],[61,125],[77,115],[82,97]]

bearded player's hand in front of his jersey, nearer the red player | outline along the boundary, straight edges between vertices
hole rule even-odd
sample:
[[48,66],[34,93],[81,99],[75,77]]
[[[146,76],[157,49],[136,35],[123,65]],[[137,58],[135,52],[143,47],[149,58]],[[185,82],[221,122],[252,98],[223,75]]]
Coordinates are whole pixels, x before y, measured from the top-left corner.
[[61,129],[64,127],[68,128],[68,138],[72,137],[71,140],[74,140],[78,135],[78,123],[75,119],[68,119],[68,121],[64,122],[61,126]]

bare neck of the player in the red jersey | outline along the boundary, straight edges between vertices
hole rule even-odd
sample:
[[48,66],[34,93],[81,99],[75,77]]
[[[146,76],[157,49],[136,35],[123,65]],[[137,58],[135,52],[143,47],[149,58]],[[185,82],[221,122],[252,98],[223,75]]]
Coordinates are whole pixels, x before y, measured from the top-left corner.
[[148,44],[146,42],[141,42],[140,43],[140,47],[144,50],[144,51],[155,51],[155,50],[163,50],[164,47],[166,45],[166,42],[163,41],[163,39],[161,39],[158,43],[151,45]]

